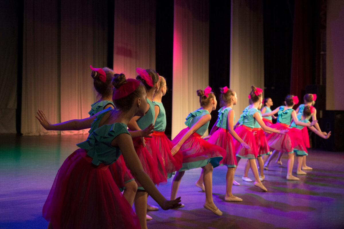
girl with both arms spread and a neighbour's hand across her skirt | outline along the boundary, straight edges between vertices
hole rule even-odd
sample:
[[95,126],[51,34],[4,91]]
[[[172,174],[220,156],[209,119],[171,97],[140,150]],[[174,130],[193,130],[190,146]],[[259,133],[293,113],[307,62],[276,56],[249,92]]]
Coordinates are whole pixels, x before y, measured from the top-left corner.
[[[285,106],[279,106],[275,110],[269,113],[264,113],[263,116],[270,116],[278,113],[277,123],[271,125],[271,128],[279,130],[289,129],[290,122],[293,120],[295,124],[301,126],[313,126],[318,121],[313,121],[312,123],[300,122],[297,118],[296,112],[292,108],[295,104],[299,102],[297,96],[288,95],[285,99]],[[268,168],[271,160],[276,156],[277,152],[288,152],[288,171],[287,171],[287,180],[300,180],[299,178],[292,175],[292,169],[294,165],[294,153],[293,153],[293,136],[291,133],[287,133],[284,136],[270,134],[268,136],[268,144],[270,148],[274,149],[269,159],[265,163],[264,167]]]

